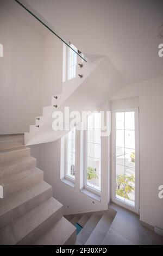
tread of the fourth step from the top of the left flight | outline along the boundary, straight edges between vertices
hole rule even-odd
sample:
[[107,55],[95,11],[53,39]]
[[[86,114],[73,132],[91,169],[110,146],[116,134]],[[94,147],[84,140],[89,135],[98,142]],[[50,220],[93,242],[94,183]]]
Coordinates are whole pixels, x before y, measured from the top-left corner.
[[37,173],[43,173],[43,171],[37,167],[28,169],[28,170],[23,170],[23,172],[14,173],[12,175],[5,176],[5,178],[3,178],[0,181],[0,185],[1,186],[9,186],[10,184],[16,182],[17,180],[24,179],[27,176],[33,176]]

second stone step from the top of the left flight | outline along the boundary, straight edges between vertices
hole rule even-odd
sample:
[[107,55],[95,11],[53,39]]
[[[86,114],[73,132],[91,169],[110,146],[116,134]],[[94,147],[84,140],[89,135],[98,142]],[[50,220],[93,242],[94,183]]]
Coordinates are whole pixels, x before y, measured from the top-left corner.
[[30,148],[19,147],[13,149],[0,150],[0,163],[9,162],[17,159],[18,157],[30,156]]

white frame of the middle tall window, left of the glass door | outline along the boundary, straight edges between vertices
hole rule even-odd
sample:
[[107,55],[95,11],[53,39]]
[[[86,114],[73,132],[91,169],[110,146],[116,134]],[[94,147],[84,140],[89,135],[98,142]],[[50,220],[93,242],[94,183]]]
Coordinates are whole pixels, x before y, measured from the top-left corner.
[[[102,143],[101,143],[101,151],[102,151]],[[101,169],[101,172],[102,172],[102,169]],[[93,188],[87,185],[87,119],[86,119],[86,131],[84,131],[84,188],[92,193],[98,194],[98,196],[101,195],[101,191],[96,190],[96,188]]]

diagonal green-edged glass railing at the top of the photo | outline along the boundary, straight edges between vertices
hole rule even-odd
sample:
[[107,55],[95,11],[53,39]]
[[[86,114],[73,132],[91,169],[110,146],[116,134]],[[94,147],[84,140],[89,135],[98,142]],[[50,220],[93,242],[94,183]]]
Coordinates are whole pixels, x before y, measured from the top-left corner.
[[57,36],[62,42],[64,42],[64,44],[70,47],[73,52],[76,52],[76,54],[78,54],[80,58],[82,58],[85,62],[87,62],[87,58],[84,56],[84,54],[80,52],[80,50],[78,50],[76,47],[72,47],[71,42],[67,42],[64,38],[62,38],[62,36],[59,35],[59,33],[56,33],[54,31],[54,28],[40,14],[38,14],[30,5],[28,5],[27,3],[24,3],[23,1],[15,0],[15,2],[20,4],[21,7],[24,8],[26,11],[28,11],[30,15],[35,17],[37,21],[39,21],[49,31],[51,31],[55,36]]

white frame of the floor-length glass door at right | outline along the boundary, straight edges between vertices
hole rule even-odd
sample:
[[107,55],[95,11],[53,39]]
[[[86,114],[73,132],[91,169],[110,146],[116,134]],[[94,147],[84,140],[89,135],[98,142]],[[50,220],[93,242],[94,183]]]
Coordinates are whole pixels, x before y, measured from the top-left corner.
[[[135,206],[123,203],[116,198],[116,113],[135,112]],[[111,200],[124,208],[139,214],[139,108],[114,109],[112,111],[112,161],[111,161]]]

